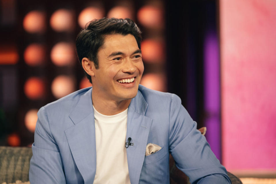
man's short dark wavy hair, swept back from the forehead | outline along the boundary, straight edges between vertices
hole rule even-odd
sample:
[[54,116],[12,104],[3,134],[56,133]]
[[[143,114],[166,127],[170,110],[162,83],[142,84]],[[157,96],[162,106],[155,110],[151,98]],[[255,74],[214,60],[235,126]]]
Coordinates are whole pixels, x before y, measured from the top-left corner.
[[[138,44],[139,49],[141,46],[141,31],[138,26],[129,18],[101,18],[88,22],[84,30],[78,34],[76,38],[76,49],[78,59],[81,63],[84,57],[94,62],[95,68],[99,68],[99,61],[97,53],[99,49],[104,45],[104,38],[110,34],[132,34]],[[89,82],[91,76],[85,72]]]

